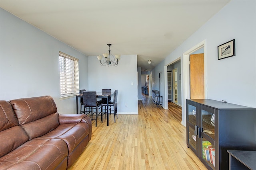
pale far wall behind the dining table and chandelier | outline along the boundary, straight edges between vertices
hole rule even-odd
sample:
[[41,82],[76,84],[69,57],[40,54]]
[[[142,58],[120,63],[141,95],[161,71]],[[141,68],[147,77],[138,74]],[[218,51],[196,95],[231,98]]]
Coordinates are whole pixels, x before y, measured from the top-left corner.
[[138,114],[137,55],[121,55],[118,66],[101,66],[96,56],[89,56],[88,63],[86,91],[118,89],[118,114]]

